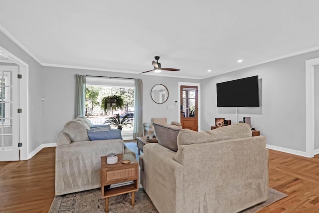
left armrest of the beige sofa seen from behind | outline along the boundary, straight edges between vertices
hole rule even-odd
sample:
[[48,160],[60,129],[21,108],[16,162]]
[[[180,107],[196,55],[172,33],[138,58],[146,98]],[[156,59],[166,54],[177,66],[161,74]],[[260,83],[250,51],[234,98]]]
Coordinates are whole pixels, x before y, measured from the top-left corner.
[[[184,191],[183,166],[174,160],[175,152],[158,143],[143,147],[143,188],[159,212],[180,212]],[[187,186],[186,186],[187,187]]]

